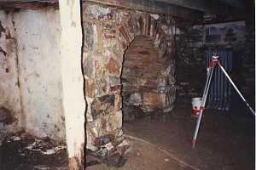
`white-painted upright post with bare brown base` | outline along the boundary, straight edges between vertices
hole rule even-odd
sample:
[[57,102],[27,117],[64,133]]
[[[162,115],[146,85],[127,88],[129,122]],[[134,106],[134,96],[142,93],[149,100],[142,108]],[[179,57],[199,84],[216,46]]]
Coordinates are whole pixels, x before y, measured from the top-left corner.
[[66,122],[68,169],[83,169],[84,79],[81,68],[82,27],[79,0],[59,1],[61,14],[62,103]]

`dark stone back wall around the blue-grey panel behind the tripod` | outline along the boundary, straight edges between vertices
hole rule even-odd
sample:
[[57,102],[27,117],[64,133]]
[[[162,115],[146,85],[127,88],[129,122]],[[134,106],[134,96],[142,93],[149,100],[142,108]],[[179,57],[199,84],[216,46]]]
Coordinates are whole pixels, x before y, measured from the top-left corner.
[[191,97],[201,96],[206,80],[207,49],[229,49],[233,52],[230,76],[253,104],[255,65],[252,32],[253,25],[245,21],[197,26],[185,20],[177,21],[177,99],[190,103]]

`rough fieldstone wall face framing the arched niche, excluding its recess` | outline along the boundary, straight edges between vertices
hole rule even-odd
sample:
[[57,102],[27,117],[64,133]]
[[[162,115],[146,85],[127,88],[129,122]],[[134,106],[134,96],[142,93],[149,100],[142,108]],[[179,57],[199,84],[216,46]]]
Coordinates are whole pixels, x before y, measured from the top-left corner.
[[[157,14],[83,4],[87,148],[99,148],[97,141],[104,136],[115,144],[122,141],[120,75],[125,49],[138,35],[152,37],[160,56],[173,63],[172,21]],[[166,74],[173,75],[173,65],[169,70]],[[170,76],[168,81],[174,83],[175,78]],[[175,88],[170,96],[167,105],[175,99]]]

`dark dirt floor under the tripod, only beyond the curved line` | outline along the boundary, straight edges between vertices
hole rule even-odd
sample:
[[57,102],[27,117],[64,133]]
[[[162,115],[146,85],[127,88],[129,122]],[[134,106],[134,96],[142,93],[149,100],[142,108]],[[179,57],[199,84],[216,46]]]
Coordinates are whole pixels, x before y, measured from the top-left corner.
[[196,119],[190,114],[189,103],[177,105],[166,122],[150,122],[145,118],[125,123],[125,133],[156,144],[200,169],[255,169],[253,116],[207,110],[193,150],[191,139]]

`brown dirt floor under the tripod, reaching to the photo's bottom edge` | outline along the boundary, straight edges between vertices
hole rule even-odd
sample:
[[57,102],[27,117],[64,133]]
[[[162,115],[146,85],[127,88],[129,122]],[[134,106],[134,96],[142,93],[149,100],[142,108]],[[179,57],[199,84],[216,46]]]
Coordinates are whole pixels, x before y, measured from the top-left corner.
[[[254,117],[247,116],[248,111],[244,109],[246,108],[241,110],[235,107],[230,111],[207,110],[202,119],[196,148],[192,149],[196,119],[191,117],[190,101],[183,99],[183,102],[177,103],[166,121],[152,121],[148,116],[124,123],[125,134],[150,143],[131,140],[133,150],[124,167],[114,168],[101,164],[88,169],[253,170]],[[155,149],[155,146],[160,150]]]

